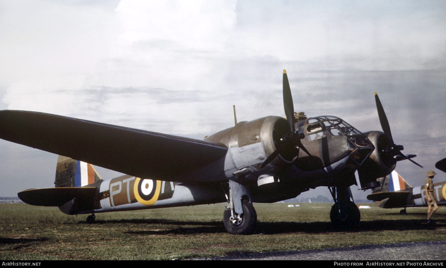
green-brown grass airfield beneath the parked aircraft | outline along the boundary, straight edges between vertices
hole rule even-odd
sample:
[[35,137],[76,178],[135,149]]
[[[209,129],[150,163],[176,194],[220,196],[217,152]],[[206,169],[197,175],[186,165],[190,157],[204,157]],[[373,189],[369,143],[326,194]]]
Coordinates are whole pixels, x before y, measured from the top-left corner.
[[[359,228],[331,227],[333,204],[259,204],[254,235],[228,234],[225,204],[70,216],[58,208],[0,204],[1,260],[172,260],[446,239],[446,208],[435,225],[422,223],[427,208],[361,209]],[[360,204],[358,204],[360,205]]]

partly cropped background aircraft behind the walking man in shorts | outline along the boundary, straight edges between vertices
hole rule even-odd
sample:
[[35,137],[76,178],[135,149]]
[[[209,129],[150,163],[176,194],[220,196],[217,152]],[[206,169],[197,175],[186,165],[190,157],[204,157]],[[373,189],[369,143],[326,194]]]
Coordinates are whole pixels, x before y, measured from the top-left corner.
[[[446,158],[438,161],[435,167],[446,172]],[[395,170],[377,181],[380,185],[373,188],[372,194],[367,196],[376,205],[382,208],[404,208],[400,210],[401,214],[406,214],[406,207],[427,206],[425,186],[410,186]],[[434,183],[434,198],[439,206],[446,205],[446,181]]]

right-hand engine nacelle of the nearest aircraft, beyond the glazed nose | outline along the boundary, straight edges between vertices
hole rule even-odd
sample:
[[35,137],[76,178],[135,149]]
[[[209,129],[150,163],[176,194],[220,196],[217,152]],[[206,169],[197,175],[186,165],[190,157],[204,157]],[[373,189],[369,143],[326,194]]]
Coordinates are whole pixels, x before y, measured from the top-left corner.
[[389,138],[380,131],[365,132],[368,140],[375,146],[368,159],[358,168],[361,188],[373,188],[378,185],[379,177],[390,174],[396,166],[396,158],[386,150],[392,146]]

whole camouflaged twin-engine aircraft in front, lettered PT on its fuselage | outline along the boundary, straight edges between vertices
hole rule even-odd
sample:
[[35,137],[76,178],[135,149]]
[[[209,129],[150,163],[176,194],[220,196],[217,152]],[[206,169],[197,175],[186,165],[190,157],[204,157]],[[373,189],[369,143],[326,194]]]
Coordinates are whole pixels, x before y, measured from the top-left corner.
[[[327,186],[335,201],[331,222],[354,228],[360,220],[349,194],[355,171],[361,188],[375,188],[376,178],[391,173],[396,161],[414,157],[394,144],[376,93],[375,99],[384,132],[363,133],[335,116],[295,119],[284,70],[286,119],[239,122],[204,140],[11,110],[0,111],[0,138],[60,155],[55,188],[18,195],[66,214],[91,214],[87,222],[98,212],[227,202],[226,230],[249,234],[257,222],[253,202]],[[91,164],[128,175],[101,180]]]

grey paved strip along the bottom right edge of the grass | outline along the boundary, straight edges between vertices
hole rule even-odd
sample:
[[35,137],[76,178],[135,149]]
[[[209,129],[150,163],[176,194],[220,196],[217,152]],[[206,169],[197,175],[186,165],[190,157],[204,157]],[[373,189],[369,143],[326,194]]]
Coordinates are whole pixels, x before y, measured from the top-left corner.
[[446,260],[446,240],[288,252],[240,252],[192,260]]

